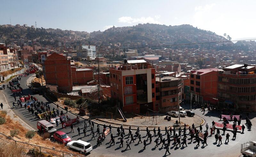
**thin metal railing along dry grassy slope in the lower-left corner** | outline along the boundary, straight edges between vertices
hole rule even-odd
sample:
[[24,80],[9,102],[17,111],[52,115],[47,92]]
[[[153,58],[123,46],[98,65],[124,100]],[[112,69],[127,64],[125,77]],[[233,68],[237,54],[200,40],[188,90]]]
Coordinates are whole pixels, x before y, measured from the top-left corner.
[[56,149],[51,149],[51,148],[46,148],[46,147],[43,147],[43,146],[37,146],[37,145],[25,143],[25,142],[16,141],[15,139],[10,138],[10,137],[4,135],[3,133],[0,133],[0,140],[4,141],[6,143],[9,143],[11,145],[15,145],[17,147],[21,147],[21,148],[24,148],[24,149],[27,149],[27,150],[36,151],[36,152],[40,152],[40,153],[51,154],[53,156],[60,156],[60,157],[69,157],[69,156],[85,157],[83,155],[63,152],[63,151],[56,150]]

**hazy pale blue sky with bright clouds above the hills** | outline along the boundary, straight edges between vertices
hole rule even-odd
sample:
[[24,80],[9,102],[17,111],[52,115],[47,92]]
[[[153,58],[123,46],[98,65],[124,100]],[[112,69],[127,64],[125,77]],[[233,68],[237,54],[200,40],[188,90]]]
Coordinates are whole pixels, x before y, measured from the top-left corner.
[[138,23],[190,24],[227,33],[232,39],[256,37],[255,0],[0,0],[0,24],[28,24],[75,31],[104,31]]

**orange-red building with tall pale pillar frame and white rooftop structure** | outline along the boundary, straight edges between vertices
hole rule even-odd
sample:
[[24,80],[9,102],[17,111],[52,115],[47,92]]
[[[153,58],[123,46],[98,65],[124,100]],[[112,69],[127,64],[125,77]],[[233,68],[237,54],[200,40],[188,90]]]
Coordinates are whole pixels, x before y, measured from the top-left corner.
[[124,112],[146,113],[158,111],[156,106],[155,68],[144,60],[125,61],[120,67],[111,67],[111,97]]

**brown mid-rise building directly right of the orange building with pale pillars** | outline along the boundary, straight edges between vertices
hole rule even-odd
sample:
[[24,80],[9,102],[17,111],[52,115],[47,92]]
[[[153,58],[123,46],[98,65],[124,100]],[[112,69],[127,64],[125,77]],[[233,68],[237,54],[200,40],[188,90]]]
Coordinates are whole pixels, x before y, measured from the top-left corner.
[[156,78],[156,106],[161,112],[178,111],[181,102],[181,79],[173,76]]

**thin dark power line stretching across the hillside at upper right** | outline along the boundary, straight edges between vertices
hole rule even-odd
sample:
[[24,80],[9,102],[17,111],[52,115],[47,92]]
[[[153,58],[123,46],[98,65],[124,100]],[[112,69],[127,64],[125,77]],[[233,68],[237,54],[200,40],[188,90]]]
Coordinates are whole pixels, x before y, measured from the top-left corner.
[[[211,43],[223,43],[223,42],[234,42],[234,41],[246,41],[246,40],[256,40],[256,39],[244,39],[244,40],[228,40],[228,41],[212,41],[212,42],[202,42],[202,43],[185,43],[185,44],[172,44],[172,45],[159,45],[159,46],[141,46],[141,47],[129,47],[129,48],[110,48],[112,50],[119,49],[135,49],[135,48],[146,48],[146,47],[165,47],[165,46],[182,46],[182,45],[195,45],[195,44],[211,44]],[[109,49],[108,49],[109,50]],[[103,51],[103,50],[98,50]]]

